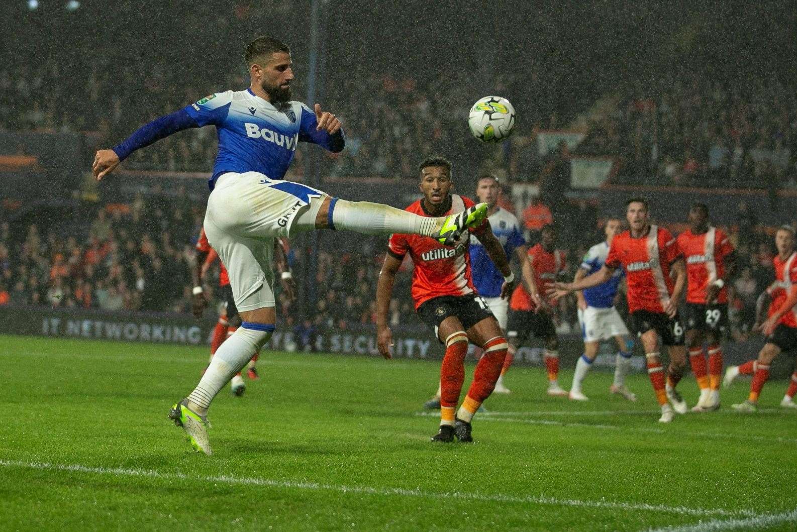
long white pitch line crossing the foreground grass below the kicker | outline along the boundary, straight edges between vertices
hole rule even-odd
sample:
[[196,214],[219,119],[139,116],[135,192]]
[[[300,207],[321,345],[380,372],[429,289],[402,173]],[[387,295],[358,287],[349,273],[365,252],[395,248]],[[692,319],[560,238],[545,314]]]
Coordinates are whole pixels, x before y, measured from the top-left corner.
[[43,471],[74,471],[80,473],[94,473],[98,475],[143,477],[149,479],[176,479],[199,483],[245,484],[249,486],[282,487],[311,491],[336,491],[338,493],[346,494],[383,495],[388,497],[402,495],[406,497],[418,497],[421,499],[468,499],[488,503],[531,503],[545,506],[601,508],[626,511],[639,510],[664,512],[669,514],[689,514],[697,516],[714,515],[736,518],[752,518],[758,515],[752,510],[670,507],[663,504],[622,503],[607,500],[584,501],[579,499],[556,499],[555,497],[548,497],[546,495],[519,496],[504,494],[481,494],[478,492],[469,491],[422,491],[419,489],[406,489],[402,487],[346,486],[342,484],[272,480],[257,477],[238,477],[234,475],[186,475],[184,473],[168,473],[153,471],[151,469],[131,469],[127,467],[90,467],[81,464],[49,464],[47,462],[26,462],[22,460],[0,460],[0,467],[18,467],[24,469],[38,469]]

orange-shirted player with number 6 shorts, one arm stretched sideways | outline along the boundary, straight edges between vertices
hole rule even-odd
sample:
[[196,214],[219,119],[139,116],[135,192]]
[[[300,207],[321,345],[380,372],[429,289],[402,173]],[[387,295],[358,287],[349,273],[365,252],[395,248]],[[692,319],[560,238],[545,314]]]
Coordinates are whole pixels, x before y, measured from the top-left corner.
[[[684,327],[678,318],[678,300],[686,286],[683,253],[667,229],[650,224],[645,199],[626,201],[626,220],[630,230],[614,237],[606,263],[598,272],[574,283],[556,283],[548,290],[548,295],[559,299],[572,291],[605,283],[615,269],[625,269],[631,328],[639,334],[645,348],[650,382],[662,407],[662,417],[658,421],[669,423],[673,421],[673,408],[681,414],[687,410],[685,401],[675,389],[686,366]],[[666,383],[659,338],[669,347]],[[668,399],[672,408],[667,404]]]

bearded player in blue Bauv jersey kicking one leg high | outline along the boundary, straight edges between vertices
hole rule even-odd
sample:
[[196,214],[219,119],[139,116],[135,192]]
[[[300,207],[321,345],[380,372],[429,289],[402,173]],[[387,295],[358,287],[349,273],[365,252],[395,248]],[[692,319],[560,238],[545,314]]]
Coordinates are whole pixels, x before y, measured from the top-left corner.
[[139,128],[111,150],[100,150],[92,166],[106,177],[124,158],[176,131],[214,125],[218,155],[210,177],[204,228],[230,273],[243,323],[219,347],[202,380],[170,413],[197,451],[211,454],[207,409],[230,378],[269,341],[276,321],[273,240],[312,229],[347,229],[366,234],[414,233],[454,245],[463,231],[481,224],[487,205],[447,217],[422,217],[367,201],[332,198],[320,190],[283,181],[296,143],[328,151],[344,149],[340,120],[315,104],[291,100],[293,63],[287,45],[261,36],[247,46],[249,88],[217,92]]

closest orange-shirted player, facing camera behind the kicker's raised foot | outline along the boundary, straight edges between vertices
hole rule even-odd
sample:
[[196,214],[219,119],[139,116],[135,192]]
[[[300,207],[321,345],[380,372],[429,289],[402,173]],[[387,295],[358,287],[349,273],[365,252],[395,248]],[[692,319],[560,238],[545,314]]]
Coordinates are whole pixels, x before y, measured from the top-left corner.
[[[444,158],[427,158],[420,165],[420,189],[423,198],[406,208],[420,216],[437,217],[473,205],[473,201],[451,194],[451,163]],[[508,344],[501,327],[487,303],[478,295],[470,277],[468,245],[470,233],[484,244],[485,251],[504,276],[501,295],[513,288],[514,276],[509,269],[504,248],[490,229],[488,220],[463,233],[454,248],[434,238],[410,234],[393,234],[376,288],[377,345],[385,358],[391,358],[391,328],[387,312],[395,274],[407,253],[414,263],[412,299],[415,311],[434,335],[446,346],[440,369],[440,429],[432,441],[472,442],[471,421],[481,403],[493,393],[507,354]],[[468,343],[481,346],[485,353],[477,363],[473,382],[465,400],[456,411],[465,381],[465,355]]]

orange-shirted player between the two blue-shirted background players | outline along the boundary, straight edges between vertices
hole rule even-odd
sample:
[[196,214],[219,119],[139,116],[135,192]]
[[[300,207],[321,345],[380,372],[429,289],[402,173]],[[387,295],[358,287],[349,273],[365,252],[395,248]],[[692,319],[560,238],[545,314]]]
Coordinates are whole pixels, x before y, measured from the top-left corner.
[[559,338],[551,317],[553,309],[540,296],[567,270],[564,252],[556,249],[556,237],[556,227],[545,225],[540,243],[528,250],[528,260],[523,263],[523,284],[515,288],[509,300],[506,330],[515,349],[532,333],[545,342],[543,359],[548,370],[548,395],[566,397],[567,390],[559,386]]

